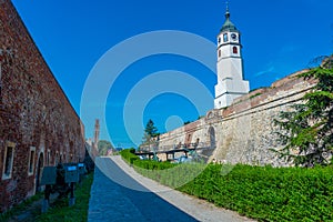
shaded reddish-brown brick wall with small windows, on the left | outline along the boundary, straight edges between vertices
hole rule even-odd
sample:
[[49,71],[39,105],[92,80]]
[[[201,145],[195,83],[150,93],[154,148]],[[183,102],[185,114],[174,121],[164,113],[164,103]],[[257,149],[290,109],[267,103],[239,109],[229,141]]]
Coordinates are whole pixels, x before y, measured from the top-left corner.
[[[0,212],[34,193],[37,164],[84,157],[84,129],[10,0],[0,0],[0,173],[4,149],[16,143],[12,176],[0,178]],[[30,147],[34,171],[28,175]],[[48,150],[50,160],[47,162]]]

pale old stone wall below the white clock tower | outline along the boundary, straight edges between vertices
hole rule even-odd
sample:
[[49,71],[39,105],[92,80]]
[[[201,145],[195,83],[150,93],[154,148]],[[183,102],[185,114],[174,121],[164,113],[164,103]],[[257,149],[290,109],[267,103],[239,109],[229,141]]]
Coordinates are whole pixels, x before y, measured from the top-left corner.
[[201,153],[210,161],[287,165],[271,151],[281,148],[274,119],[281,111],[300,102],[313,88],[313,80],[304,81],[296,77],[304,71],[238,98],[229,108],[211,110],[204,118],[160,135],[160,150],[200,141],[202,147],[213,149]]

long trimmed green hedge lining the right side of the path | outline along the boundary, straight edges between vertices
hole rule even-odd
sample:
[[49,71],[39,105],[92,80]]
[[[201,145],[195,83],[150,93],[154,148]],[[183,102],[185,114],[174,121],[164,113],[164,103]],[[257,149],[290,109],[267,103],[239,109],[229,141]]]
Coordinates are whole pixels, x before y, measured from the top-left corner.
[[[122,157],[134,158],[123,153]],[[236,164],[225,174],[230,165],[181,164],[181,168],[161,171],[168,164],[174,167],[139,158],[133,161],[135,170],[145,176],[259,221],[333,221],[332,167]],[[179,186],[182,179],[193,178],[198,172],[201,173],[194,180]]]

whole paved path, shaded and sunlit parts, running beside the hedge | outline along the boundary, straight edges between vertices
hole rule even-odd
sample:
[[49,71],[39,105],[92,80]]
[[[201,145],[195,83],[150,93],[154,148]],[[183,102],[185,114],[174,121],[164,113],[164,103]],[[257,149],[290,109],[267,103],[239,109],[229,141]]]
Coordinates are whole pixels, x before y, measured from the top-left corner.
[[89,222],[250,221],[138,174],[120,157],[97,158]]

